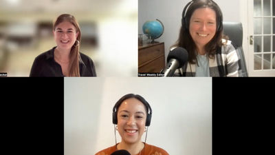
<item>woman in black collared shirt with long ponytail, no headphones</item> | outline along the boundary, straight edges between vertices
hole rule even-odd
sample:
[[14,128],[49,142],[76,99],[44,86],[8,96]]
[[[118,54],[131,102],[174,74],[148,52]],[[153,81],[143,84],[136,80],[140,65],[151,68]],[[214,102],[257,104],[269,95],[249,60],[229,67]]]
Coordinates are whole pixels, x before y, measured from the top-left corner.
[[36,56],[30,76],[96,76],[94,62],[80,53],[81,32],[71,14],[61,14],[53,25],[56,47]]

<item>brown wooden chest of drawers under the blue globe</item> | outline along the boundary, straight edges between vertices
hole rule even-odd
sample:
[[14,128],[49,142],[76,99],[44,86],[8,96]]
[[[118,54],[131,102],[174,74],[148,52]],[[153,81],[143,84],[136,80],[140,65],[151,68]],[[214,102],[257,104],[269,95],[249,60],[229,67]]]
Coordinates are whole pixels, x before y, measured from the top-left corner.
[[165,65],[164,43],[138,46],[138,72],[159,73]]

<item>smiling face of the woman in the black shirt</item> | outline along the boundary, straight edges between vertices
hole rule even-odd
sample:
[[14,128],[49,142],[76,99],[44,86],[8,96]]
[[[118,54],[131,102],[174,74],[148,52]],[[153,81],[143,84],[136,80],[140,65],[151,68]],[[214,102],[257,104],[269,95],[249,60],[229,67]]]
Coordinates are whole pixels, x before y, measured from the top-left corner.
[[70,50],[78,37],[76,27],[68,21],[63,21],[56,25],[53,32],[57,48],[61,50]]

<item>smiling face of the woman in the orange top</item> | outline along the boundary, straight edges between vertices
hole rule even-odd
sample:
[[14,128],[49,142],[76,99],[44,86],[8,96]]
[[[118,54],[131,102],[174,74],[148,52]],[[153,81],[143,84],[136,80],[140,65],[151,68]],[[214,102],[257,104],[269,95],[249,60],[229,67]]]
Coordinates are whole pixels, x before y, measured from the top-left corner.
[[146,123],[144,104],[135,98],[126,99],[118,108],[118,132],[123,143],[141,141]]

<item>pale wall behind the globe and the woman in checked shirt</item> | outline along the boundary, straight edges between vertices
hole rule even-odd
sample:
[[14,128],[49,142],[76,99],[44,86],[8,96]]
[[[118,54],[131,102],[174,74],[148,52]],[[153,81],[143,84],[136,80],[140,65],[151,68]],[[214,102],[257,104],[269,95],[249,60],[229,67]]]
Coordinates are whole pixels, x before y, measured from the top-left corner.
[[[159,19],[164,23],[164,34],[156,41],[164,41],[166,56],[171,45],[179,37],[181,14],[190,0],[139,0],[138,1],[138,33],[142,34],[145,21]],[[241,21],[240,0],[216,0],[223,12],[223,21]]]

